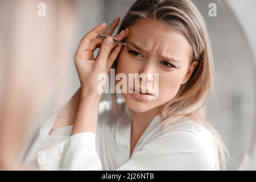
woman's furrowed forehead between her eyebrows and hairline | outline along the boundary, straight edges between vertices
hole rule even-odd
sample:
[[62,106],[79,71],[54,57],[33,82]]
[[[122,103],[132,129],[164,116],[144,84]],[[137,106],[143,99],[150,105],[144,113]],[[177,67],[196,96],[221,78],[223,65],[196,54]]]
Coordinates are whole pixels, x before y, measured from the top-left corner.
[[142,20],[131,26],[126,42],[133,42],[152,54],[176,57],[183,62],[189,60],[192,51],[183,34],[154,20]]

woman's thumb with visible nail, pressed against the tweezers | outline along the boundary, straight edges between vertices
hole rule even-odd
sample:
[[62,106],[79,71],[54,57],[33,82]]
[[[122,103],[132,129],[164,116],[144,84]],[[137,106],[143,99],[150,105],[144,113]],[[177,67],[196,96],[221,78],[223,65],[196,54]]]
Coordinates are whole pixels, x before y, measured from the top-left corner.
[[106,66],[106,64],[108,63],[110,52],[112,50],[112,45],[113,38],[111,36],[108,36],[101,45],[96,63]]

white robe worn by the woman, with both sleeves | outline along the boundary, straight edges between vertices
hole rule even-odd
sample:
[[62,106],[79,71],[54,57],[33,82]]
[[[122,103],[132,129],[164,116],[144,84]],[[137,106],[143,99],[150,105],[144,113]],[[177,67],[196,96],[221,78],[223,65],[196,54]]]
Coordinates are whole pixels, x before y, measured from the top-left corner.
[[130,156],[131,115],[122,103],[122,118],[111,102],[99,106],[96,134],[70,136],[72,126],[49,131],[56,112],[32,134],[20,159],[41,170],[218,170],[218,147],[213,135],[199,122],[183,119],[160,131],[160,115],[151,121]]

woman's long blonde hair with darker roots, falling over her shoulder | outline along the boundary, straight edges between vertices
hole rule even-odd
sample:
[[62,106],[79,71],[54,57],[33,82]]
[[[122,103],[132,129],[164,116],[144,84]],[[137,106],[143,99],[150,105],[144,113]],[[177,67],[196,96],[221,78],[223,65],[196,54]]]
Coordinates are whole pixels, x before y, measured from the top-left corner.
[[[162,129],[174,125],[179,122],[180,118],[184,117],[201,121],[216,139],[221,167],[226,169],[229,159],[228,149],[202,111],[209,99],[214,75],[212,50],[203,17],[196,6],[188,0],[138,0],[126,13],[118,32],[133,26],[139,20],[146,19],[159,20],[181,32],[192,46],[189,64],[197,61],[191,77],[180,86],[176,96],[160,106],[159,114],[162,117]],[[112,68],[117,68],[117,64],[118,59],[115,60]],[[121,116],[115,94],[112,94],[112,101],[117,114]]]

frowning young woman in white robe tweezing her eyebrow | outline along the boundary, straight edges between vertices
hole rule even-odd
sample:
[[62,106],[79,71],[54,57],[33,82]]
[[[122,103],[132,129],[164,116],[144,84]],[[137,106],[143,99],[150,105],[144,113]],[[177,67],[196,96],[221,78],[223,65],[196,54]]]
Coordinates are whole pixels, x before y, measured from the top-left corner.
[[[201,111],[212,84],[207,29],[192,2],[138,0],[118,26],[101,23],[81,39],[74,60],[81,88],[24,147],[24,164],[40,169],[217,170],[226,147]],[[93,52],[100,48],[96,58]],[[100,102],[98,75],[158,73],[159,94],[134,85]],[[154,83],[155,77],[147,76]],[[118,81],[115,82],[118,84]],[[152,91],[152,92],[151,92]]]

